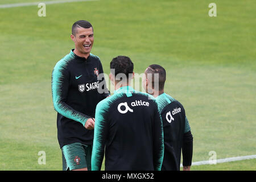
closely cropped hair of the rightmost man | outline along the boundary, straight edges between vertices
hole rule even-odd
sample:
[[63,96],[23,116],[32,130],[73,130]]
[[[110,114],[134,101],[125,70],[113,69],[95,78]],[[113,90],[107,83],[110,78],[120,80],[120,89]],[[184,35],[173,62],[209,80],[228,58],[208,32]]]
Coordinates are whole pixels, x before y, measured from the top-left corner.
[[[159,74],[159,80],[156,81],[154,80],[154,74],[158,73]],[[166,70],[158,65],[158,64],[151,64],[150,66],[147,67],[146,71],[145,71],[146,77],[148,78],[148,74],[152,74],[151,78],[152,80],[152,88],[155,88],[155,84],[158,84],[158,88],[159,90],[163,90],[164,89],[164,83],[166,82]]]

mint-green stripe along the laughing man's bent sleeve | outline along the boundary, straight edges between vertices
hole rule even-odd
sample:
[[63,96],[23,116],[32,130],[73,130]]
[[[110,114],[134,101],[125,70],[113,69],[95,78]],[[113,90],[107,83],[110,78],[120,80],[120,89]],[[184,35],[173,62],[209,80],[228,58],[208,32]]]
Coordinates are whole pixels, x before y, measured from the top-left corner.
[[81,114],[76,110],[73,110],[72,107],[65,104],[65,102],[62,101],[62,98],[61,98],[61,93],[63,92],[61,88],[62,88],[62,85],[64,84],[63,72],[67,68],[67,64],[69,63],[69,61],[71,61],[72,58],[73,56],[69,53],[69,55],[65,56],[63,59],[58,61],[58,63],[55,65],[55,68],[52,71],[53,106],[54,106],[54,109],[64,117],[80,122],[84,126],[88,118],[85,117],[84,114]]

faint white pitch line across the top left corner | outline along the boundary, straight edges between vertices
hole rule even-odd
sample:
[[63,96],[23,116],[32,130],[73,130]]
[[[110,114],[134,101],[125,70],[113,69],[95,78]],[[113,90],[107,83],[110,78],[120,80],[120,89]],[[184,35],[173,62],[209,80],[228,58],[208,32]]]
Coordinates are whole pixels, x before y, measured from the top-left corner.
[[13,3],[0,5],[0,9],[10,8],[10,7],[23,7],[23,6],[38,6],[39,3],[45,3],[46,5],[68,3],[68,2],[84,2],[84,1],[100,1],[100,0],[62,0],[62,1],[45,1],[45,2],[24,2],[24,3]]

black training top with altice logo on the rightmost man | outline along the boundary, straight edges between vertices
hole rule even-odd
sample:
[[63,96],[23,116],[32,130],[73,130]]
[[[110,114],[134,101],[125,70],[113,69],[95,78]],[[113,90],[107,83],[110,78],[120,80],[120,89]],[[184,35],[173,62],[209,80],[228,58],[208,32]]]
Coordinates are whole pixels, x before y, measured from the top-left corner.
[[[185,115],[185,109],[179,101],[166,93],[156,97],[163,121],[164,131],[164,159],[162,170],[172,171],[180,169],[181,148],[184,134],[191,128]],[[192,150],[192,148],[189,148]],[[188,151],[191,153],[191,151]],[[191,159],[192,160],[192,156]]]

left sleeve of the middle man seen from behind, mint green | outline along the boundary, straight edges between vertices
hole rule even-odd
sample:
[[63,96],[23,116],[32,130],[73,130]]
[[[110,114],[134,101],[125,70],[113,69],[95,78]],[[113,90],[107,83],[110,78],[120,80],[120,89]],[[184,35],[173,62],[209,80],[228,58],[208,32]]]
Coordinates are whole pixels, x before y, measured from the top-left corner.
[[95,125],[94,125],[94,139],[92,150],[92,171],[100,171],[102,160],[104,158],[104,148],[106,143],[106,136],[108,135],[108,126],[106,119],[107,105],[104,101],[99,102],[96,107]]

